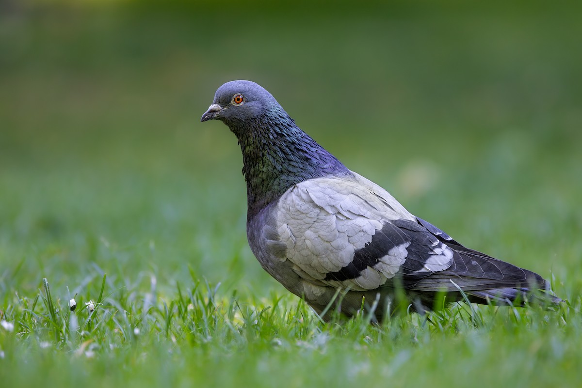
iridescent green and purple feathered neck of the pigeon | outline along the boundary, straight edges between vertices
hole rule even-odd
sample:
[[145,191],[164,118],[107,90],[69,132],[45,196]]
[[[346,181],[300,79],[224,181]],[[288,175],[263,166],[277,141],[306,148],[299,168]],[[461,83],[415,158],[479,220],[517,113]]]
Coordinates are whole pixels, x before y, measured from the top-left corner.
[[331,174],[350,174],[284,111],[245,124],[244,128],[230,129],[239,139],[243,153],[248,220],[293,185]]

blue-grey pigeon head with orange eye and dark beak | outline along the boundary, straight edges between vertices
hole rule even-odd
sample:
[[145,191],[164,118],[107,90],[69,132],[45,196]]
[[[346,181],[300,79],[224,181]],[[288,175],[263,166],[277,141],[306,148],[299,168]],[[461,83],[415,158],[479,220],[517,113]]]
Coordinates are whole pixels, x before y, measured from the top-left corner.
[[230,81],[218,88],[200,121],[221,120],[231,129],[281,109],[275,98],[251,81]]

